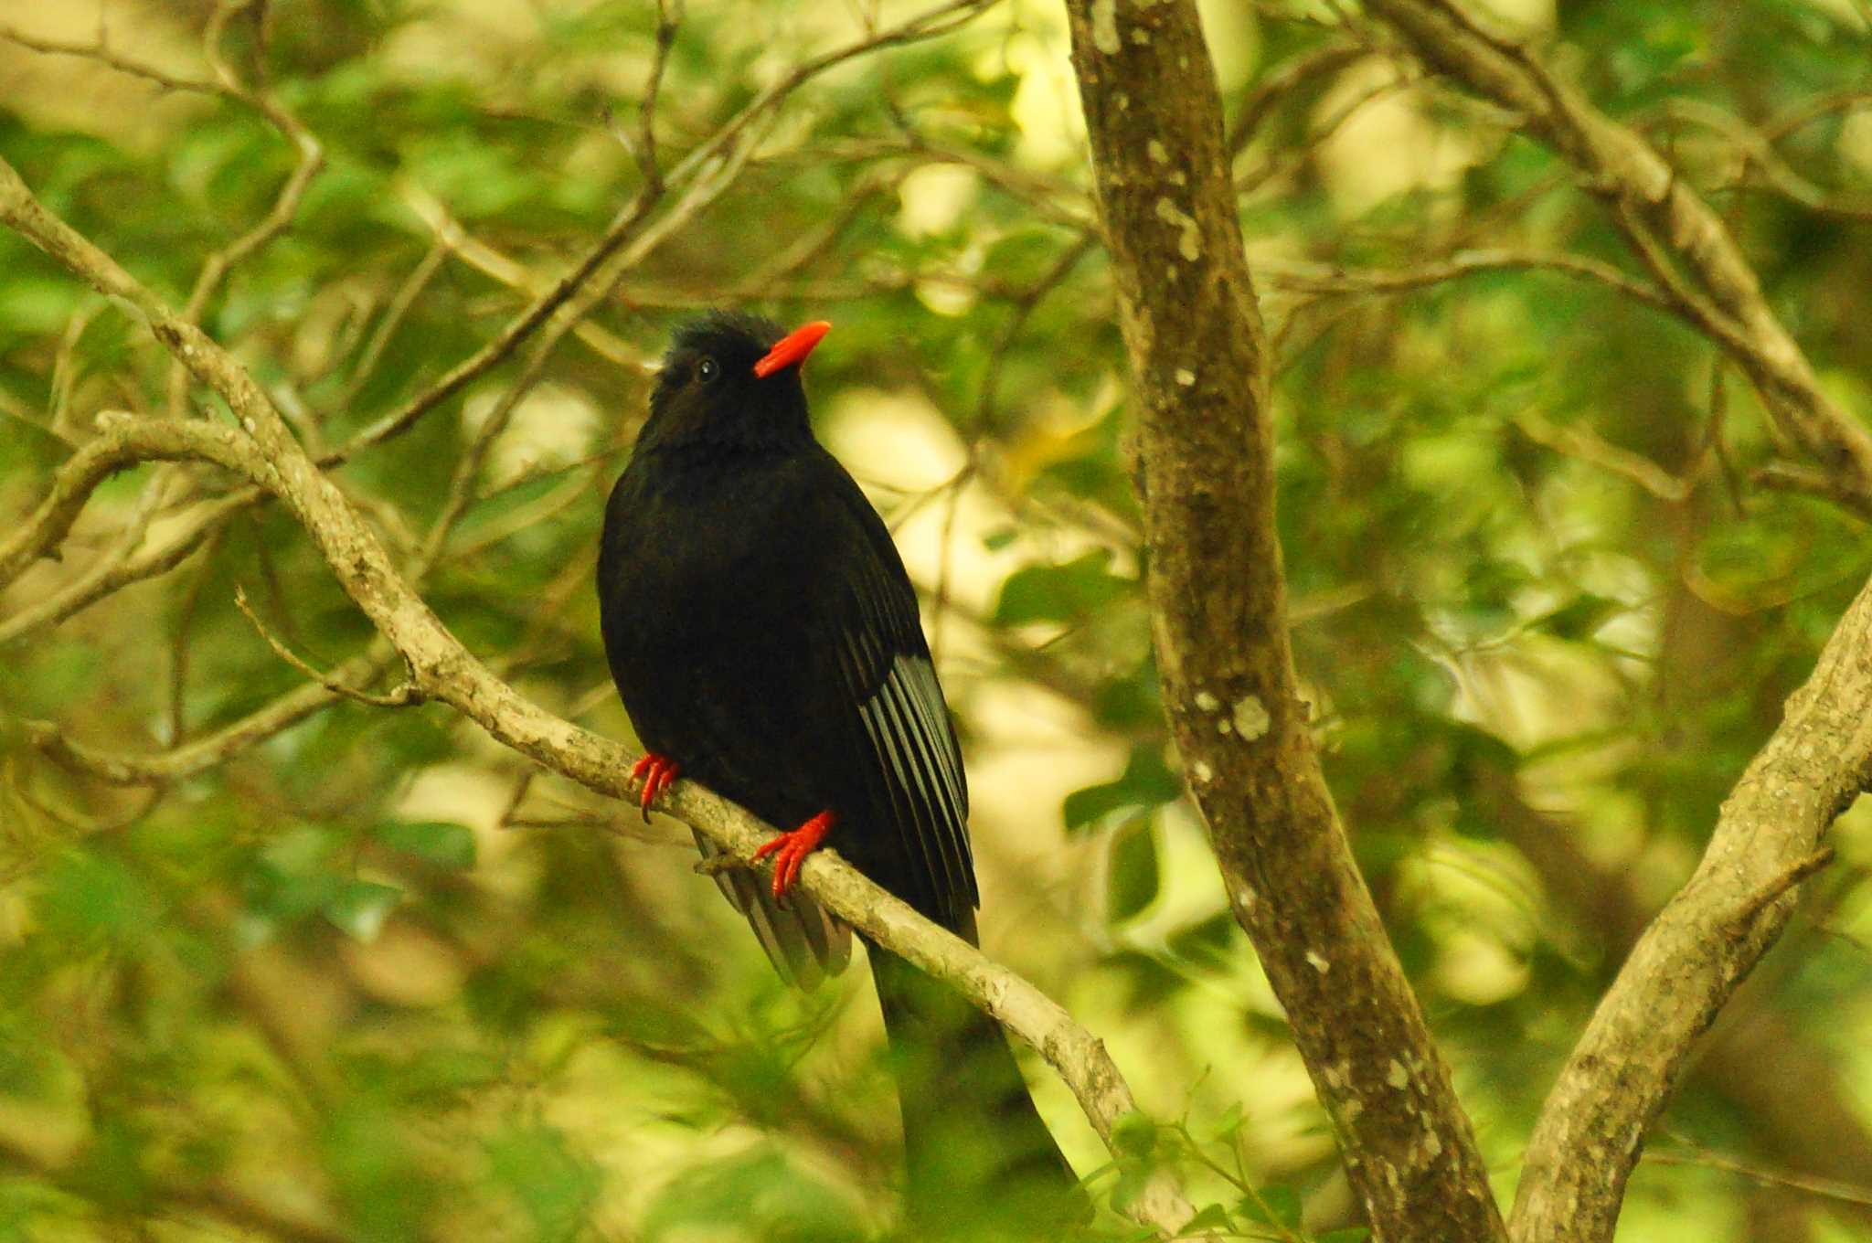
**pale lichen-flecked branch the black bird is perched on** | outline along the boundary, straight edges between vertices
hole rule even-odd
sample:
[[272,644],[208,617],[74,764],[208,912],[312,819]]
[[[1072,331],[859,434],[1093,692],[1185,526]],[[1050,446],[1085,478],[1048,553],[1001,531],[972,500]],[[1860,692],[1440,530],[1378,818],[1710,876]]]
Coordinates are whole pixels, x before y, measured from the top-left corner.
[[[30,560],[52,547],[56,535],[49,532],[58,522],[69,528],[82,509],[84,496],[110,470],[150,457],[213,462],[277,496],[292,511],[344,592],[404,659],[410,683],[419,695],[453,706],[494,739],[543,768],[599,794],[629,796],[629,771],[636,756],[532,704],[470,653],[397,573],[376,535],[294,440],[281,414],[247,371],[213,339],[137,283],[116,260],[49,213],[6,161],[0,161],[0,223],[15,228],[99,292],[133,307],[170,354],[197,380],[219,393],[240,421],[240,427],[228,427],[204,419],[103,416],[99,442],[107,449],[86,459],[86,468],[73,474],[73,483],[47,500],[54,509],[52,519],[30,524],[30,537],[21,547],[9,547],[13,560],[22,556]],[[318,687],[316,693],[309,689],[307,700],[322,702],[329,695],[333,693],[326,687]],[[45,730],[39,730],[34,741],[60,753],[58,741]],[[64,753],[82,766],[84,756],[69,743],[64,745]],[[118,777],[137,781],[131,773]],[[741,807],[687,781],[666,792],[659,799],[659,809],[689,822],[749,867],[754,850],[775,833]],[[1106,1054],[1104,1043],[1078,1026],[1039,988],[921,917],[831,850],[814,852],[807,859],[799,884],[854,929],[951,983],[1033,1046],[1073,1089],[1086,1118],[1106,1144],[1112,1142],[1114,1125],[1138,1112],[1131,1088]],[[1192,1206],[1166,1174],[1151,1177],[1129,1211],[1164,1234],[1176,1234],[1194,1217]]]

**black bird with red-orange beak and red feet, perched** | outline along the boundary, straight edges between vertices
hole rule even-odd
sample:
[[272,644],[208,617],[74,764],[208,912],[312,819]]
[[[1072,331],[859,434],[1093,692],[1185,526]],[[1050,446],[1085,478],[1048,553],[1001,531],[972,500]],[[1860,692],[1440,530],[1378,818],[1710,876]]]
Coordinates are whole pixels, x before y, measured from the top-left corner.
[[[741,869],[717,880],[801,987],[850,957],[850,930],[788,893],[822,841],[970,942],[979,904],[962,753],[910,575],[807,421],[799,363],[827,328],[717,311],[678,329],[597,563],[610,674],[648,751],[644,807],[680,771],[797,826],[762,850],[771,885]],[[870,966],[912,1221],[996,1237],[1082,1219],[996,1022],[876,945]]]

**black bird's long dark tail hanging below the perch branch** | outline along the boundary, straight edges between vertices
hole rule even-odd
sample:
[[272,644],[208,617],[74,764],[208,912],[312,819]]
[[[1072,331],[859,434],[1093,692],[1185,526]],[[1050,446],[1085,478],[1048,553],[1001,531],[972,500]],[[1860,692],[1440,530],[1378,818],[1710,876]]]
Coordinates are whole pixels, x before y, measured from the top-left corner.
[[910,1224],[929,1239],[1056,1239],[1091,1215],[1000,1024],[867,943],[904,1116]]

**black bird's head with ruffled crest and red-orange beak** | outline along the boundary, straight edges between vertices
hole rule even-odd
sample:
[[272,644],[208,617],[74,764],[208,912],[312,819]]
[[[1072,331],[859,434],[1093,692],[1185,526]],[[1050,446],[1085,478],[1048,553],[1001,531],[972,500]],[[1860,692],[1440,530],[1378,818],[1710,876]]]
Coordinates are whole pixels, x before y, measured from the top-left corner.
[[689,320],[663,356],[644,438],[754,447],[811,434],[799,363],[829,328],[816,320],[788,333],[734,311]]

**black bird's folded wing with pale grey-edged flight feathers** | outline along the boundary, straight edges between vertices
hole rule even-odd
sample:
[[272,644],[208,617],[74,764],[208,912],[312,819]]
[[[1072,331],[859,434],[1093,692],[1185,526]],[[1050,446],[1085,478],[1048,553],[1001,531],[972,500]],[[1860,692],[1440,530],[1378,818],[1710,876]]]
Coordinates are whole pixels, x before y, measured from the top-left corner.
[[[846,537],[822,625],[837,653],[841,698],[861,734],[869,812],[887,824],[859,826],[880,859],[874,880],[957,932],[973,936],[975,869],[968,844],[968,779],[929,642],[897,545],[844,470],[831,485]],[[837,839],[835,839],[835,844]],[[895,865],[895,867],[891,867]],[[882,874],[878,874],[882,872]]]

